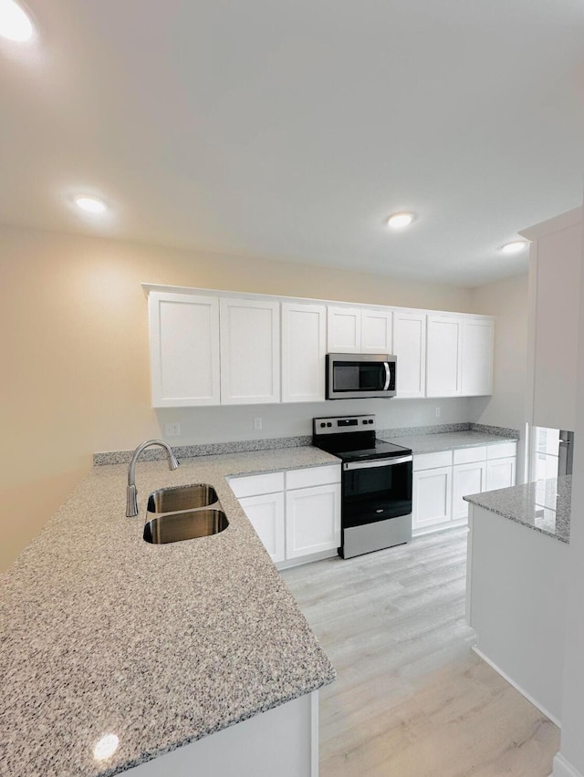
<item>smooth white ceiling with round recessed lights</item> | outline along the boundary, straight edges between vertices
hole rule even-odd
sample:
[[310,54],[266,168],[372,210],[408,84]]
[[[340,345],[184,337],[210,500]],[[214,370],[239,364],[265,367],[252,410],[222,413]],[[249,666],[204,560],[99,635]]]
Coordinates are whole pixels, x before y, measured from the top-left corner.
[[0,39],[2,223],[479,285],[582,202],[583,0],[26,5],[36,42]]

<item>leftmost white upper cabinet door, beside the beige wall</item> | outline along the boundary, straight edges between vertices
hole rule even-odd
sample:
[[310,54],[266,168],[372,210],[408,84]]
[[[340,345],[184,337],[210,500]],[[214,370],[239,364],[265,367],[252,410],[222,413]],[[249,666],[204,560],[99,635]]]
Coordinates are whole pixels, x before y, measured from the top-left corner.
[[218,405],[219,301],[214,296],[148,296],[152,407]]

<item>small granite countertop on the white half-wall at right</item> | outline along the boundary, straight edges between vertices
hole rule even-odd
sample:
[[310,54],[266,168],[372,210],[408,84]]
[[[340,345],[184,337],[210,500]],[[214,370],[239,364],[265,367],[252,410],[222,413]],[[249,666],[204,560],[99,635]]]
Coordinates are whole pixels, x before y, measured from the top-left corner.
[[554,537],[561,543],[569,543],[571,496],[572,477],[564,475],[463,498],[477,507]]

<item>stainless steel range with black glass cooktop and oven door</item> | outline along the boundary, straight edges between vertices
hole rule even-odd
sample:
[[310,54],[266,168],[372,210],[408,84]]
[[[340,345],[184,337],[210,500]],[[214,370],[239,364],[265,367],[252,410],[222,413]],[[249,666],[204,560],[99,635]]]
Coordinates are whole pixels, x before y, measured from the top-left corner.
[[312,444],[341,460],[341,545],[355,555],[412,539],[412,451],[378,440],[375,416],[312,420]]

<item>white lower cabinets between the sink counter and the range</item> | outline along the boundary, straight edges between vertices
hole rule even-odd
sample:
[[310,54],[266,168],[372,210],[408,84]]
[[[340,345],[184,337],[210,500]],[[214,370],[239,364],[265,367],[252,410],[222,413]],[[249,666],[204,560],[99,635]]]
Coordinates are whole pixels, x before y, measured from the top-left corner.
[[336,553],[340,464],[244,475],[229,485],[277,565]]

